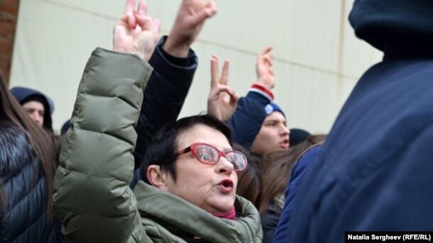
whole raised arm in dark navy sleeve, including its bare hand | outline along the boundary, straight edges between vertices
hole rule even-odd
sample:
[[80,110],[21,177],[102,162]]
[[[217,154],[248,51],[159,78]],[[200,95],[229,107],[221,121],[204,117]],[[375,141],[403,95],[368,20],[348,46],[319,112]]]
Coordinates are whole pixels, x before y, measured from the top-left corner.
[[177,120],[197,68],[197,56],[190,45],[204,22],[216,13],[213,1],[182,1],[170,35],[160,40],[150,58],[153,74],[144,91],[143,107],[136,126],[136,168],[140,166],[153,135],[166,123]]

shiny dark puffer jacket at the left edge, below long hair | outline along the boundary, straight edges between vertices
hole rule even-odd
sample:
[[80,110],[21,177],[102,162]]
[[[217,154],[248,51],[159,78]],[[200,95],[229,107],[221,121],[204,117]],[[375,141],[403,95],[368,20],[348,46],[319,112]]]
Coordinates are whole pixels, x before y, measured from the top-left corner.
[[[60,225],[46,220],[47,184],[21,128],[0,122],[0,242],[56,242]],[[32,162],[33,160],[33,162]]]

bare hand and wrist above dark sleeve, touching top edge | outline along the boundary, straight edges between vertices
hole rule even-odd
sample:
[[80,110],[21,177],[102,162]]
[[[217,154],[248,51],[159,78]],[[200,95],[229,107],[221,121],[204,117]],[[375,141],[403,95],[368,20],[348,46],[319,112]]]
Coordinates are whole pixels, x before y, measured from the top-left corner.
[[214,1],[183,0],[164,50],[175,57],[187,57],[190,45],[199,35],[204,21],[216,13]]

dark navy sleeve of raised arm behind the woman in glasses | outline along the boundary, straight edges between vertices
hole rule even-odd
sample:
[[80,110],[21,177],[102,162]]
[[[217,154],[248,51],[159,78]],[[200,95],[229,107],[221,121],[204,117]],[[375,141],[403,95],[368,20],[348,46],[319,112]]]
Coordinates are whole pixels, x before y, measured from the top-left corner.
[[143,106],[136,125],[138,138],[133,152],[136,171],[131,188],[141,178],[137,168],[141,166],[155,133],[165,124],[177,120],[197,69],[197,55],[193,50],[187,58],[172,57],[163,50],[165,40],[166,36],[159,41],[149,60],[153,72],[144,91]]

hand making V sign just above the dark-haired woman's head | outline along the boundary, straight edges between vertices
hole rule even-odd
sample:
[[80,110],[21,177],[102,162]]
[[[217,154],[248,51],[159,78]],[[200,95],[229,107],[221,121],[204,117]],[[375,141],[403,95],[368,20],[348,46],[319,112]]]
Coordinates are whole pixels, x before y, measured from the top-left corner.
[[[239,96],[227,86],[229,81],[229,60],[224,62],[221,77],[219,77],[218,57],[211,59],[211,89],[207,98],[207,113],[215,115],[219,120],[229,120],[236,110]],[[229,99],[226,99],[226,95]]]

